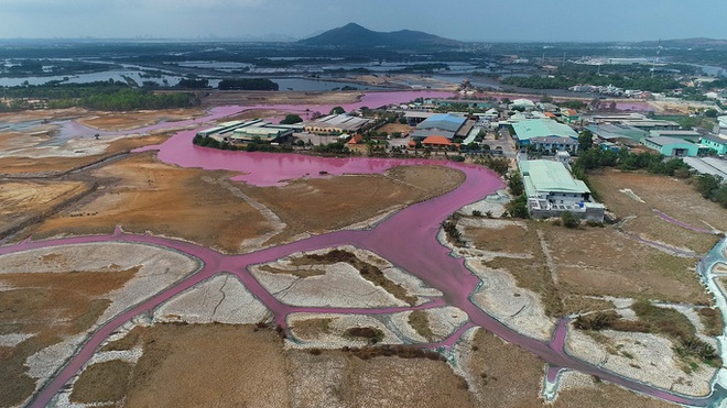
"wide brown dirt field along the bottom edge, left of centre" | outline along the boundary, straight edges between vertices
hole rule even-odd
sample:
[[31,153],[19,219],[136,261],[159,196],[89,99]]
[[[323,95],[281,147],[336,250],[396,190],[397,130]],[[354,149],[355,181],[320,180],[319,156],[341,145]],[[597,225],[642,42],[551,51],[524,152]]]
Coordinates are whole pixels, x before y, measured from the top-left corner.
[[[113,349],[140,344],[138,363],[91,365],[72,401],[124,395],[127,406],[474,406],[462,378],[442,361],[283,351],[272,330],[250,326],[156,324],[127,338]],[[109,386],[109,377],[121,385]]]

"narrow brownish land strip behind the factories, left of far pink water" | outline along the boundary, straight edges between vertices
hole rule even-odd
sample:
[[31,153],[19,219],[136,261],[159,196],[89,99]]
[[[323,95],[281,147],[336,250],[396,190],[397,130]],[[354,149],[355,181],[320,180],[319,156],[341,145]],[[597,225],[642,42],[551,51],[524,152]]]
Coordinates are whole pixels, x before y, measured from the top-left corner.
[[257,104],[336,104],[358,101],[360,92],[273,92],[273,91],[213,91],[203,100],[205,106]]

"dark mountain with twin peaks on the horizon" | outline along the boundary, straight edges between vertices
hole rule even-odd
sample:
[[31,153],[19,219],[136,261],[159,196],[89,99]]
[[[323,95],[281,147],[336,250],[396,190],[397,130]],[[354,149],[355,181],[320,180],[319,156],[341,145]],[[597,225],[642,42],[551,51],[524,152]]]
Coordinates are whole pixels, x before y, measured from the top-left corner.
[[401,30],[389,33],[371,31],[356,23],[326,31],[323,34],[301,40],[304,45],[351,46],[351,47],[436,47],[458,46],[458,41],[443,38],[421,31]]

